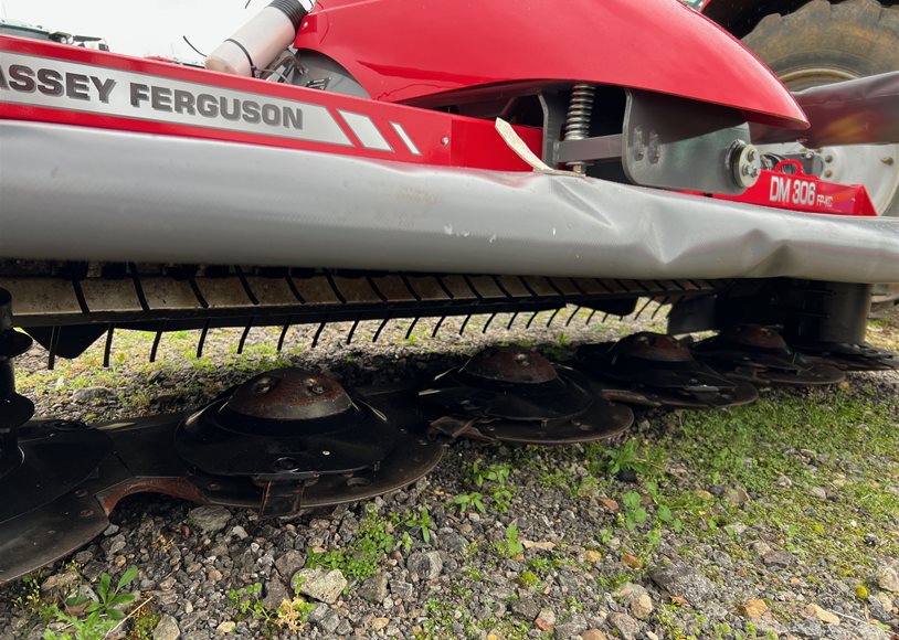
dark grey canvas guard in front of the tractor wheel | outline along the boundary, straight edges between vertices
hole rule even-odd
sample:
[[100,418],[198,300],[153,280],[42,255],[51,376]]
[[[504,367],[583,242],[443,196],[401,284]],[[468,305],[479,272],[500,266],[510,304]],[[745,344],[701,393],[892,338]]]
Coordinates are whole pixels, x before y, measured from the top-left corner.
[[786,131],[752,127],[755,143],[791,142],[808,148],[899,142],[899,72],[812,87],[793,94],[811,128]]

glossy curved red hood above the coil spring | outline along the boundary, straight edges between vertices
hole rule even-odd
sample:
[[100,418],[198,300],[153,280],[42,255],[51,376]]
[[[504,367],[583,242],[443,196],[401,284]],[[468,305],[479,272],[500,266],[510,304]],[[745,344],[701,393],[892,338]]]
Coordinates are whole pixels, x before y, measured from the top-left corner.
[[336,60],[379,100],[415,104],[474,86],[584,81],[806,126],[751,52],[675,0],[328,0],[306,18],[296,45]]

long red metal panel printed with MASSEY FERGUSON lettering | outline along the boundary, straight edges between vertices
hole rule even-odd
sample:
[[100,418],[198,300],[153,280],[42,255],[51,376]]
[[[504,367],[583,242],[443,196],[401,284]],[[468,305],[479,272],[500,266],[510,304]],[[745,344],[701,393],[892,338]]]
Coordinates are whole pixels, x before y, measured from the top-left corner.
[[[155,78],[157,82],[172,79],[192,83],[192,85],[200,88],[210,87],[210,89],[214,89],[218,87],[242,92],[251,97],[255,96],[256,99],[271,96],[282,100],[321,106],[327,109],[343,135],[349,138],[350,143],[324,143],[277,135],[269,136],[215,128],[214,126],[208,126],[209,122],[203,122],[199,118],[197,126],[150,119],[138,110],[135,110],[133,117],[125,117],[121,114],[92,113],[89,103],[85,103],[83,107],[82,105],[74,105],[71,100],[60,100],[59,106],[56,106],[52,104],[53,100],[51,99],[44,99],[42,105],[17,104],[12,99],[17,92],[3,86],[0,86],[0,118],[286,147],[431,166],[530,171],[530,167],[501,142],[498,134],[494,130],[494,124],[488,120],[340,96],[316,89],[183,67],[167,62],[135,58],[3,35],[0,35],[0,63],[3,63],[0,70],[8,70],[13,60],[12,56],[7,55],[6,57],[9,60],[4,63],[4,52],[29,56],[29,60],[33,61],[32,66],[34,67],[39,67],[41,61],[71,62],[89,65],[88,68],[95,70],[92,73],[96,73],[101,77],[104,75],[104,70],[117,70],[140,74],[137,77],[140,77],[140,81],[148,85],[152,85]],[[21,57],[15,60],[21,61]],[[127,92],[128,87],[116,86],[114,90]],[[78,108],[75,108],[75,106]],[[390,145],[391,150],[364,148],[357,135],[347,125],[341,111],[360,114],[370,118],[377,130]],[[417,151],[417,153],[401,138],[394,125],[402,128],[414,145],[414,151]],[[531,150],[540,152],[542,141],[540,130],[527,127],[517,127],[516,130]]]

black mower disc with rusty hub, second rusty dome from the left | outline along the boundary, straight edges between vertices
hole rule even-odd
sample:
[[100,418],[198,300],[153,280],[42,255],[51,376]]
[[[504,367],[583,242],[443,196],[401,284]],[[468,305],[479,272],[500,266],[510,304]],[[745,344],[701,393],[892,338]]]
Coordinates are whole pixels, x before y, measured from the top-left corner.
[[633,412],[600,397],[589,377],[517,346],[487,349],[420,392],[432,429],[451,437],[564,445],[613,437]]

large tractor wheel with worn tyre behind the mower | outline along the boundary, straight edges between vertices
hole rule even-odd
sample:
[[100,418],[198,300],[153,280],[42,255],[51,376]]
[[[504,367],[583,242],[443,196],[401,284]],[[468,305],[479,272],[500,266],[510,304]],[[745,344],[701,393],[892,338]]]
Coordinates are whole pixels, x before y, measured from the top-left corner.
[[[793,13],[764,17],[743,44],[791,90],[899,71],[899,7],[812,0]],[[837,151],[847,152],[833,180],[865,183],[881,215],[899,216],[899,145],[849,149]]]

